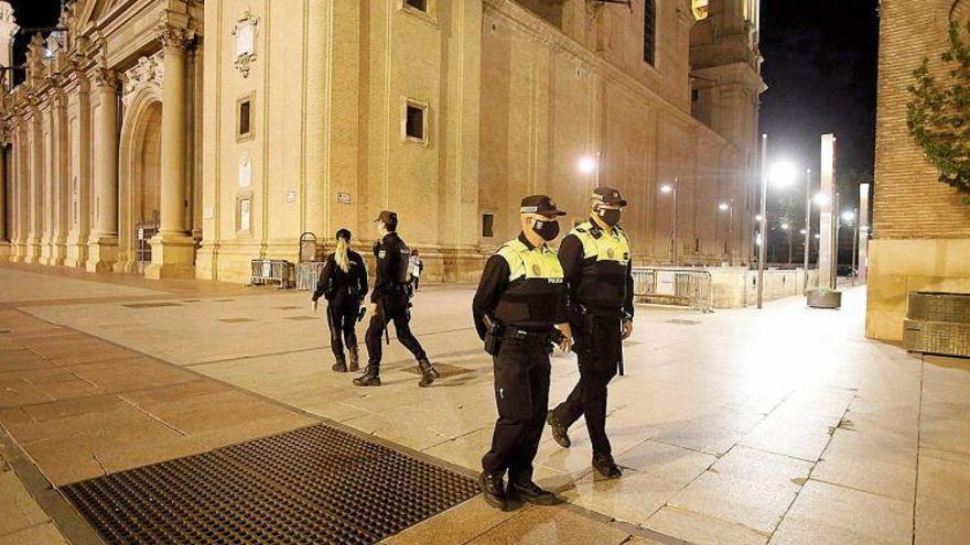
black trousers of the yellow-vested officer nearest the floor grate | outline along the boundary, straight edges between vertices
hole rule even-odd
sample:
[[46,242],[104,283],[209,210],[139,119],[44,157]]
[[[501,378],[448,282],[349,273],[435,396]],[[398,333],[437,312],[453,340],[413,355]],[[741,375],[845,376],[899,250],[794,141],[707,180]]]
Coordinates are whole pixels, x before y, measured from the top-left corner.
[[509,482],[532,479],[532,460],[549,406],[549,344],[504,339],[493,356],[498,421],[492,449],[482,458],[489,473],[508,470]]

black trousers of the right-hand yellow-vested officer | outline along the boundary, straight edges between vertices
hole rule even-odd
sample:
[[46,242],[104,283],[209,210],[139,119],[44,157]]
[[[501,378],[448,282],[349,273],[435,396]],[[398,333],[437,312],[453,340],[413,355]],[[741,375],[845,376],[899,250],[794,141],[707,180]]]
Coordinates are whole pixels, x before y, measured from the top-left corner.
[[580,381],[569,397],[556,407],[553,416],[570,426],[585,415],[593,454],[613,454],[606,437],[606,386],[616,377],[623,357],[621,318],[593,316],[571,327],[579,356]]

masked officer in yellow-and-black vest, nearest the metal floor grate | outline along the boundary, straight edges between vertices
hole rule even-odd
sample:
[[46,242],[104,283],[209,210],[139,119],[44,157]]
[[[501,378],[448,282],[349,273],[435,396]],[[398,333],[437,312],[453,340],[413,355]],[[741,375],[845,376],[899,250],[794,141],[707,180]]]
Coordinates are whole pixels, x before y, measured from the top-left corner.
[[493,358],[498,405],[478,483],[485,500],[503,510],[515,500],[559,501],[532,482],[532,460],[549,404],[550,345],[563,351],[570,345],[562,266],[547,246],[565,212],[546,195],[532,195],[522,199],[520,214],[521,233],[485,263],[472,304],[475,328]]

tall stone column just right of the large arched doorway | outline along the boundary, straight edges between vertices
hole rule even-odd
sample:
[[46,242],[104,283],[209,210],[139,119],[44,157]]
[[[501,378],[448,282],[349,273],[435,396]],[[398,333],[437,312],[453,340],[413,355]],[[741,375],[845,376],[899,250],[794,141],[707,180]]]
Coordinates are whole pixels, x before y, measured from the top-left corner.
[[165,70],[162,80],[161,210],[159,233],[151,240],[152,262],[144,271],[150,279],[195,276],[195,241],[188,235],[185,221],[188,161],[185,50],[193,37],[193,31],[182,26],[159,26]]

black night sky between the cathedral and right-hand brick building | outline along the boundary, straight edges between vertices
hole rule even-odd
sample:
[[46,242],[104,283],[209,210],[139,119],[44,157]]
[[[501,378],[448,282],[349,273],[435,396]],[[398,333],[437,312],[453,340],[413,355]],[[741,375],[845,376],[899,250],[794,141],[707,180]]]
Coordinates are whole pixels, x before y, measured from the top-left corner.
[[768,155],[818,172],[819,137],[838,138],[840,172],[872,172],[879,0],[762,2],[761,130]]

